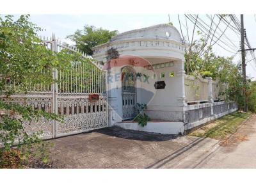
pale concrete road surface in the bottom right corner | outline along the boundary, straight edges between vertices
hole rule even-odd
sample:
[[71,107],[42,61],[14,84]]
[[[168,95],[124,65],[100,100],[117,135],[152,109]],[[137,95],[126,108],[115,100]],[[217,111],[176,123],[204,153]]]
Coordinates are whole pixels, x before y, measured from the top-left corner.
[[256,115],[196,168],[256,168]]

